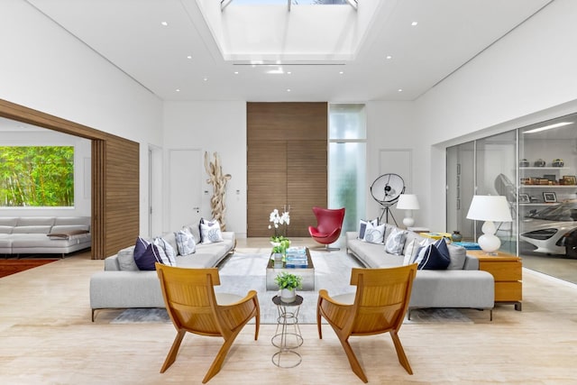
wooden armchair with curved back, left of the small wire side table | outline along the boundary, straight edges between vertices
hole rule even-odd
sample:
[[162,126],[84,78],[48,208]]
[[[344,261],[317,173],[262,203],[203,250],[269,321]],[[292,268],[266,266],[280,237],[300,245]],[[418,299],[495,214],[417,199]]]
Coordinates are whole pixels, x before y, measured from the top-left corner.
[[179,346],[187,332],[220,336],[224,344],[202,380],[206,383],[220,371],[234,339],[252,317],[256,318],[254,339],[259,337],[261,311],[256,291],[242,298],[234,294],[215,293],[220,285],[218,269],[184,269],[156,263],[164,303],[177,335],[160,368],[166,371],[176,360]]

